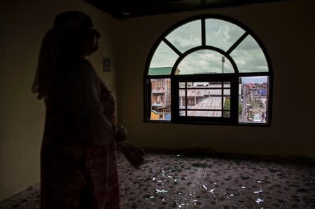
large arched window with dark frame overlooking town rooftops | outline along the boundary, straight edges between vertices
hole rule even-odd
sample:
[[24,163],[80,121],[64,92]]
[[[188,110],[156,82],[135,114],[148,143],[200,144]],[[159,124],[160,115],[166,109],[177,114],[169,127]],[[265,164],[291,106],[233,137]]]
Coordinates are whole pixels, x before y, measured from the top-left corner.
[[230,17],[179,22],[153,45],[145,121],[270,124],[272,68],[253,32]]

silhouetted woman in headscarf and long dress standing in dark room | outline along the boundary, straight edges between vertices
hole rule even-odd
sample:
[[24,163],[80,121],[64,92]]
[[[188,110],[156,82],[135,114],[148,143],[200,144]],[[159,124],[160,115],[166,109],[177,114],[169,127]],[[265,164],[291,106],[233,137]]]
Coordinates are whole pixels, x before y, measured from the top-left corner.
[[44,99],[41,208],[120,208],[116,145],[128,161],[144,163],[115,124],[116,101],[86,59],[99,32],[85,13],[57,15],[41,45],[32,91]]

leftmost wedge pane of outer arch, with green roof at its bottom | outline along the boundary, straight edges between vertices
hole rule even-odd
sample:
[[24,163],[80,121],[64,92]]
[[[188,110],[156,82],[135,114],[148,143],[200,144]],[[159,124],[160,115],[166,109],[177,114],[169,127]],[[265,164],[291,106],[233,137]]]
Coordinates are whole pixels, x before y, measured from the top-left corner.
[[162,41],[152,57],[148,75],[169,75],[177,58],[179,55]]

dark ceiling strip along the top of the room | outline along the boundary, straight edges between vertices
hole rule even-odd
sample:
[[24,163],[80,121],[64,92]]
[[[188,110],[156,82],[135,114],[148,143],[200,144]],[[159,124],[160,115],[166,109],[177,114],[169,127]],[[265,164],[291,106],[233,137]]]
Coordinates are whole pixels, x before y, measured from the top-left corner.
[[84,0],[118,19],[286,0]]

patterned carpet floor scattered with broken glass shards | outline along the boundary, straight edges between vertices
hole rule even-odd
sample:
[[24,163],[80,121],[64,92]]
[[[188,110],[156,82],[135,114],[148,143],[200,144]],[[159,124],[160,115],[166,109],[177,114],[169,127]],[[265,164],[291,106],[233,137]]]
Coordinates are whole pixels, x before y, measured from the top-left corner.
[[[315,208],[315,161],[229,154],[146,154],[136,170],[118,154],[120,205],[129,208]],[[39,208],[39,185],[0,208]]]

